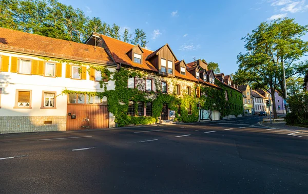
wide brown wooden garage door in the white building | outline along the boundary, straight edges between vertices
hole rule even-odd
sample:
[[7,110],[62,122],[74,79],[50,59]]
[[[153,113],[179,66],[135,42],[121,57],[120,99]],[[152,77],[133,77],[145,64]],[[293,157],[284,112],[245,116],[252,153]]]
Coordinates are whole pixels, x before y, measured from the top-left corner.
[[106,105],[67,104],[67,131],[108,127],[109,112]]

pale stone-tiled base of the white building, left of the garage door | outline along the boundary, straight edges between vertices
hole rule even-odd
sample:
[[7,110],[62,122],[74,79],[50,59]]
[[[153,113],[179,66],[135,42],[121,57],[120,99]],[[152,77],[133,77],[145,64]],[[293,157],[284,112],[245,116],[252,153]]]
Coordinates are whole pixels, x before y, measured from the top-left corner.
[[[45,123],[45,124],[44,124]],[[66,130],[66,116],[0,117],[0,134]]]

